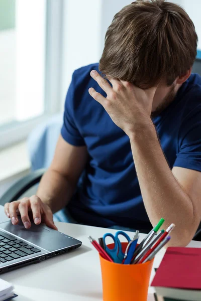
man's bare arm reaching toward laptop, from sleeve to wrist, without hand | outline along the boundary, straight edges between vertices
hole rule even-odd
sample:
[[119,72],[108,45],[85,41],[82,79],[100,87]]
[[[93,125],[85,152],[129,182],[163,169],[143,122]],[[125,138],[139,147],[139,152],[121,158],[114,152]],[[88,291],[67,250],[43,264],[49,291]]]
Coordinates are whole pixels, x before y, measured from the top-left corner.
[[41,179],[37,196],[53,213],[70,201],[87,162],[86,146],[73,146],[59,136],[54,159]]

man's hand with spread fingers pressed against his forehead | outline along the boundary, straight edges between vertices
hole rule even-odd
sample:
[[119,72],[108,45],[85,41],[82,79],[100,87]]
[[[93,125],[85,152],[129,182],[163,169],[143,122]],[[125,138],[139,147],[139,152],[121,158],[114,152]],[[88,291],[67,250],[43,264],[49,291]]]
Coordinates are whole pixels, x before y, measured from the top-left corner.
[[110,79],[113,85],[111,87],[108,81],[95,70],[92,70],[90,75],[107,93],[107,98],[93,88],[88,90],[89,94],[103,105],[115,124],[122,128],[128,136],[135,131],[138,125],[151,120],[156,87],[143,90],[132,83]]

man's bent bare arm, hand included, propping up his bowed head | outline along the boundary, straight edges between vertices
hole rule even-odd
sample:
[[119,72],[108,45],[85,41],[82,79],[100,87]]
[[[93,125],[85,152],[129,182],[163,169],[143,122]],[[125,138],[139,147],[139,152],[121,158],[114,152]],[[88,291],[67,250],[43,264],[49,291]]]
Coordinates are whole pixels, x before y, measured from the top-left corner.
[[[150,118],[157,87],[140,89],[126,81],[109,79],[111,87],[95,70],[90,75],[107,97],[93,88],[89,89],[89,94],[103,105],[115,124],[130,138],[141,193],[151,223],[157,224],[161,217],[165,219],[165,227],[175,223],[170,244],[187,245],[200,222],[201,173],[174,168],[172,172],[177,181],[171,172]],[[181,81],[187,76],[189,74]]]

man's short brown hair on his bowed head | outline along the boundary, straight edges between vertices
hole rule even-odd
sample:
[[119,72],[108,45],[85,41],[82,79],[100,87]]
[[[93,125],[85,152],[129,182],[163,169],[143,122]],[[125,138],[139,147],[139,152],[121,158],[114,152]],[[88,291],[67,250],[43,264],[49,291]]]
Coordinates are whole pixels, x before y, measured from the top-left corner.
[[137,86],[169,86],[192,67],[196,47],[194,24],[180,6],[137,0],[115,15],[99,70]]

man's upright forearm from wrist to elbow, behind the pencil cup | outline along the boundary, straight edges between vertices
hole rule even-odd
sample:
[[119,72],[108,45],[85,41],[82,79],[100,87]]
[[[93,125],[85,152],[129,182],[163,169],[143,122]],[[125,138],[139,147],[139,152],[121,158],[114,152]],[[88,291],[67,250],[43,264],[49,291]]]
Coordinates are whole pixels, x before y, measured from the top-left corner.
[[165,219],[165,227],[174,223],[171,245],[186,245],[194,231],[193,205],[166,162],[151,119],[150,124],[133,133],[130,140],[144,205],[152,225],[161,217]]

